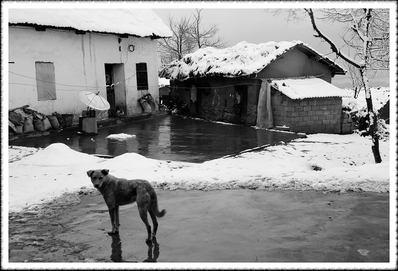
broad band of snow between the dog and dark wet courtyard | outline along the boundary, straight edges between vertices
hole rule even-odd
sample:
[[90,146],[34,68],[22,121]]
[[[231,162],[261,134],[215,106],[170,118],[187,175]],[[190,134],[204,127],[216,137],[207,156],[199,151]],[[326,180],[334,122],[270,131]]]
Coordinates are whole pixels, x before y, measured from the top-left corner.
[[109,169],[109,174],[119,178],[146,179],[155,187],[170,190],[387,192],[389,141],[380,142],[381,164],[374,163],[371,145],[370,137],[357,134],[316,134],[259,152],[195,164],[148,159],[135,153],[102,159],[57,143],[8,164],[8,211],[35,208],[54,197],[92,187],[86,173],[95,169]]

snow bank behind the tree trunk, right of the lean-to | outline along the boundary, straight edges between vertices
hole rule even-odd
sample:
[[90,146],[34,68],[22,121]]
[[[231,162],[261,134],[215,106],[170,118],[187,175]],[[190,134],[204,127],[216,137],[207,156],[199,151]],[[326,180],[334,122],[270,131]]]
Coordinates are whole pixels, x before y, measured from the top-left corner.
[[[344,89],[350,97],[343,98],[342,107],[347,111],[361,111],[368,112],[368,106],[366,104],[365,91],[361,90],[357,98],[354,98],[354,90]],[[372,94],[373,110],[379,111],[386,103],[390,100],[390,88],[389,87],[378,87],[370,89]]]

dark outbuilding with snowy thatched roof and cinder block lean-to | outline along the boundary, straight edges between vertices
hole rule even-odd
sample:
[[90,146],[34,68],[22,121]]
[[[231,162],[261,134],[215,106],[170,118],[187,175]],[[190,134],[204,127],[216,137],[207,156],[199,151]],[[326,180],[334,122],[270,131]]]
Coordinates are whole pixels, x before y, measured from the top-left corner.
[[[260,128],[339,133],[346,71],[301,41],[206,47],[159,71],[191,114]],[[283,128],[282,128],[283,127]]]

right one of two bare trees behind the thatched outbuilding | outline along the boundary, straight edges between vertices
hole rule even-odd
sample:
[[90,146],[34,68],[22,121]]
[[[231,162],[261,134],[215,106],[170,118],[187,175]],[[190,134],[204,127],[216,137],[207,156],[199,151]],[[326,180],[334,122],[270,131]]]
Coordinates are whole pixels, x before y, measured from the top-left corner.
[[217,35],[219,29],[218,25],[210,23],[206,28],[202,23],[201,9],[195,9],[193,13],[193,24],[190,29],[190,35],[196,43],[197,48],[211,46],[214,48],[224,48],[227,42],[224,41],[223,36]]

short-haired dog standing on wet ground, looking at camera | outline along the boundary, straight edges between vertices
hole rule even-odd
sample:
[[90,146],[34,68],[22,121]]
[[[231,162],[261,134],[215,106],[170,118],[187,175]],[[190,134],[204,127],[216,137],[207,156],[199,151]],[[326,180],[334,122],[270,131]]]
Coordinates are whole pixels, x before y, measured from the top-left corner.
[[[110,223],[112,223],[112,229],[108,231],[108,234],[119,232],[119,206],[137,201],[138,212],[148,232],[145,242],[152,242],[152,238],[156,238],[158,230],[156,217],[160,218],[166,214],[166,209],[159,212],[158,199],[152,185],[146,180],[126,180],[116,178],[108,173],[109,170],[89,170],[87,172],[94,187],[100,191],[108,206]],[[147,212],[152,218],[152,233]]]

